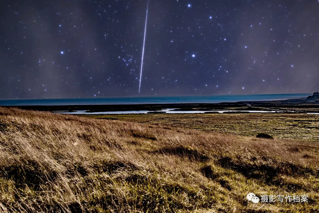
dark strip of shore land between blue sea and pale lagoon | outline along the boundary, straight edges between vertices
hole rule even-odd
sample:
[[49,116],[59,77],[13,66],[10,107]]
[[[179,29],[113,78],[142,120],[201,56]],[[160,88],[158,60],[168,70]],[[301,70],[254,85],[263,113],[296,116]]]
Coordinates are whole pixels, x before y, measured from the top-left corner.
[[153,104],[95,104],[95,105],[25,105],[25,106],[1,106],[14,107],[24,110],[38,111],[78,111],[86,110],[86,112],[107,112],[107,111],[159,111],[167,108],[181,110],[254,110],[260,109],[276,109],[293,108],[300,109],[317,109],[319,111],[318,102],[308,102],[306,98],[292,98],[287,100],[276,101],[241,101],[241,102],[222,102],[222,103],[153,103]]

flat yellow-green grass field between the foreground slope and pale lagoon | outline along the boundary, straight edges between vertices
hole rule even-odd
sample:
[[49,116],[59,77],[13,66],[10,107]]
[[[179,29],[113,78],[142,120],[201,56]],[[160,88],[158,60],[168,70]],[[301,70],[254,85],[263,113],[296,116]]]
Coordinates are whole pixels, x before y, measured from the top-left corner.
[[85,117],[114,118],[245,136],[268,133],[276,138],[319,142],[319,116],[312,114],[126,114],[85,115]]

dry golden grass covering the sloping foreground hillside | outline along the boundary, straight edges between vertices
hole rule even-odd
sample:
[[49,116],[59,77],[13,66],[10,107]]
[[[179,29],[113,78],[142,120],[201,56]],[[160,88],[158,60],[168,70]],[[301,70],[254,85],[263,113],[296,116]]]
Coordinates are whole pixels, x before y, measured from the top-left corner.
[[[0,108],[0,212],[319,212],[319,145]],[[308,203],[246,195],[308,195]]]

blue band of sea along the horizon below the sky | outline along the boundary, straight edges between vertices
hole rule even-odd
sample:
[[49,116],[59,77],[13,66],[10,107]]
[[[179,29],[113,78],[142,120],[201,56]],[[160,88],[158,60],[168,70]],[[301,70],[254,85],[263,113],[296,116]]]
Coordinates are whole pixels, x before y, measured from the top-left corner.
[[312,93],[257,94],[257,95],[211,95],[211,96],[167,96],[167,97],[94,97],[52,99],[0,100],[0,106],[22,105],[97,105],[97,104],[163,104],[163,103],[221,103],[238,101],[274,101],[290,98],[306,98]]

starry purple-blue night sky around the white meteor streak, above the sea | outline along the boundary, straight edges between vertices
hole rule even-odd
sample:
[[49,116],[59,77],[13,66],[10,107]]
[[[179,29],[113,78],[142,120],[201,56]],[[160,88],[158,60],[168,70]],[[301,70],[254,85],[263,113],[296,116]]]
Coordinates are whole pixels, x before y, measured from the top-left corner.
[[0,1],[0,98],[319,89],[319,1]]

